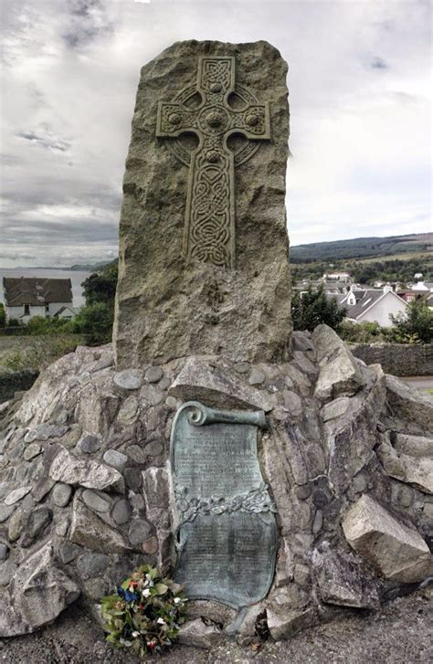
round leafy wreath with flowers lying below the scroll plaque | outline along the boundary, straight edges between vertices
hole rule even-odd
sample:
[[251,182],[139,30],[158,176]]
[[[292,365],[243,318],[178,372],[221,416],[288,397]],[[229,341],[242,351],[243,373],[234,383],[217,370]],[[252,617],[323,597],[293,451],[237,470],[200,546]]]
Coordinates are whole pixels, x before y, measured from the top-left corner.
[[142,657],[171,646],[185,621],[186,598],[181,591],[181,585],[150,565],[139,567],[115,595],[100,602],[107,641]]

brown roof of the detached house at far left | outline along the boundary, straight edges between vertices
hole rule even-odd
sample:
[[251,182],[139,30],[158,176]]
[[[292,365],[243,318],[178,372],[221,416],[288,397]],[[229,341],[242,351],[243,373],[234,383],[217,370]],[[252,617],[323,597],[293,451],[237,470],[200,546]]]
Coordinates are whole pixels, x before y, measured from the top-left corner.
[[19,307],[23,304],[44,306],[49,302],[72,303],[70,279],[44,279],[43,277],[4,277],[5,304]]

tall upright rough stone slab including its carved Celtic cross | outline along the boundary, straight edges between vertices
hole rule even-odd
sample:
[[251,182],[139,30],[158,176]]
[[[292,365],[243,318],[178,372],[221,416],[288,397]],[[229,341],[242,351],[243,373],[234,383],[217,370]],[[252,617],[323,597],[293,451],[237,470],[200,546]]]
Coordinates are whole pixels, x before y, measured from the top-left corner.
[[290,348],[287,65],[266,42],[180,42],[143,67],[126,160],[119,368]]

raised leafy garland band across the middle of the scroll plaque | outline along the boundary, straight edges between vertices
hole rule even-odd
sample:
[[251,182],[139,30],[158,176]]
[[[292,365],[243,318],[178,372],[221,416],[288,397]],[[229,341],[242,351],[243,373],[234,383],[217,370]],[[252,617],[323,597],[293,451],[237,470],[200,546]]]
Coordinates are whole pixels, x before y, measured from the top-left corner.
[[259,487],[239,493],[227,501],[226,498],[212,497],[199,500],[188,496],[185,487],[176,487],[174,490],[176,509],[181,515],[179,526],[186,522],[192,522],[198,514],[223,514],[225,512],[249,511],[259,513],[263,511],[276,512],[274,502],[269,496],[268,486],[261,482]]

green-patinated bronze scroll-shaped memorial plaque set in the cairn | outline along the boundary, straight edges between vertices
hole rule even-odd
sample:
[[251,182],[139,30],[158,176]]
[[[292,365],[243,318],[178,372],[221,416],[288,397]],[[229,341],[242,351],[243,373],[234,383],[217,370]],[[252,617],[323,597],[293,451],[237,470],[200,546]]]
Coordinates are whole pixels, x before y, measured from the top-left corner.
[[240,608],[269,591],[277,554],[275,507],[257,450],[262,411],[182,406],[171,439],[177,512],[175,579],[195,599]]

